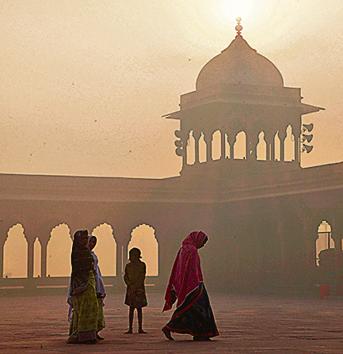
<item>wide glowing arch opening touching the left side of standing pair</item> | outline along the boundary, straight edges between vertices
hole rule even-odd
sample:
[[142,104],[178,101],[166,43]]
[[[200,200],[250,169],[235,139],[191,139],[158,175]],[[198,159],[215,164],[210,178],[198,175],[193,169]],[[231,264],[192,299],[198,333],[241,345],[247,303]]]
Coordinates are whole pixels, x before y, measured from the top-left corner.
[[51,230],[47,245],[46,270],[48,277],[70,276],[72,244],[70,228],[67,224],[59,224]]

